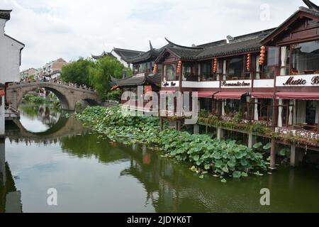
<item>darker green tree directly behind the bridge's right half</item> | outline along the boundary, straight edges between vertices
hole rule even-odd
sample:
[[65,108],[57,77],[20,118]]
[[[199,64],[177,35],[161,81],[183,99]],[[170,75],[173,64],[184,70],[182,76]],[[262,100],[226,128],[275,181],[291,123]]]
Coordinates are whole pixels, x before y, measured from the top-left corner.
[[61,79],[67,83],[90,86],[89,70],[94,67],[94,61],[90,58],[84,59],[79,57],[79,60],[70,62],[62,67]]

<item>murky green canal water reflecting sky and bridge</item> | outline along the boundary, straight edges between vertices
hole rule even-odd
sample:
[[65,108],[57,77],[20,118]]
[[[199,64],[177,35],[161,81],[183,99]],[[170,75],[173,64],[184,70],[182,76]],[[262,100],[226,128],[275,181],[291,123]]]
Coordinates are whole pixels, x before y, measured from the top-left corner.
[[[24,106],[0,144],[0,212],[319,212],[319,171],[199,179],[154,150],[111,143],[47,106]],[[22,127],[21,127],[22,126]],[[48,206],[48,189],[57,206]],[[270,206],[261,206],[261,189]]]

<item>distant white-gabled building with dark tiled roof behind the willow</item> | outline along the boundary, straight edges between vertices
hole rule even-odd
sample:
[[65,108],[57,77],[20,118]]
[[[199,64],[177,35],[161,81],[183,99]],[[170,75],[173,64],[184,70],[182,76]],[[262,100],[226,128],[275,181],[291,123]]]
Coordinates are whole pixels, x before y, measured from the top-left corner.
[[125,67],[130,67],[133,70],[133,65],[130,64],[130,59],[135,57],[140,57],[144,54],[143,51],[138,50],[126,50],[121,48],[113,48],[111,52],[102,52],[101,55],[92,55],[95,60],[98,60],[101,57],[115,57],[119,62],[121,62]]

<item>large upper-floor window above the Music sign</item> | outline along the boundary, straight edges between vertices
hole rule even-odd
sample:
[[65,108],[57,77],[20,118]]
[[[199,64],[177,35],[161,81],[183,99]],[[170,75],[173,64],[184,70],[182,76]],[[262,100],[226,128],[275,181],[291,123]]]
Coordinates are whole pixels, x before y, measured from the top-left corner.
[[319,41],[292,45],[292,74],[319,73]]

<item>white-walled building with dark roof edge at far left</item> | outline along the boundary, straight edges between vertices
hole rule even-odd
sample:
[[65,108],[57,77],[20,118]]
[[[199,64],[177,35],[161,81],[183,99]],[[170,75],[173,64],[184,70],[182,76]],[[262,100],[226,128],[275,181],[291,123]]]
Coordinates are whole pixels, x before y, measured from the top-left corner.
[[20,80],[21,50],[24,44],[4,33],[11,10],[0,9],[0,136],[4,135],[4,87],[8,82]]

